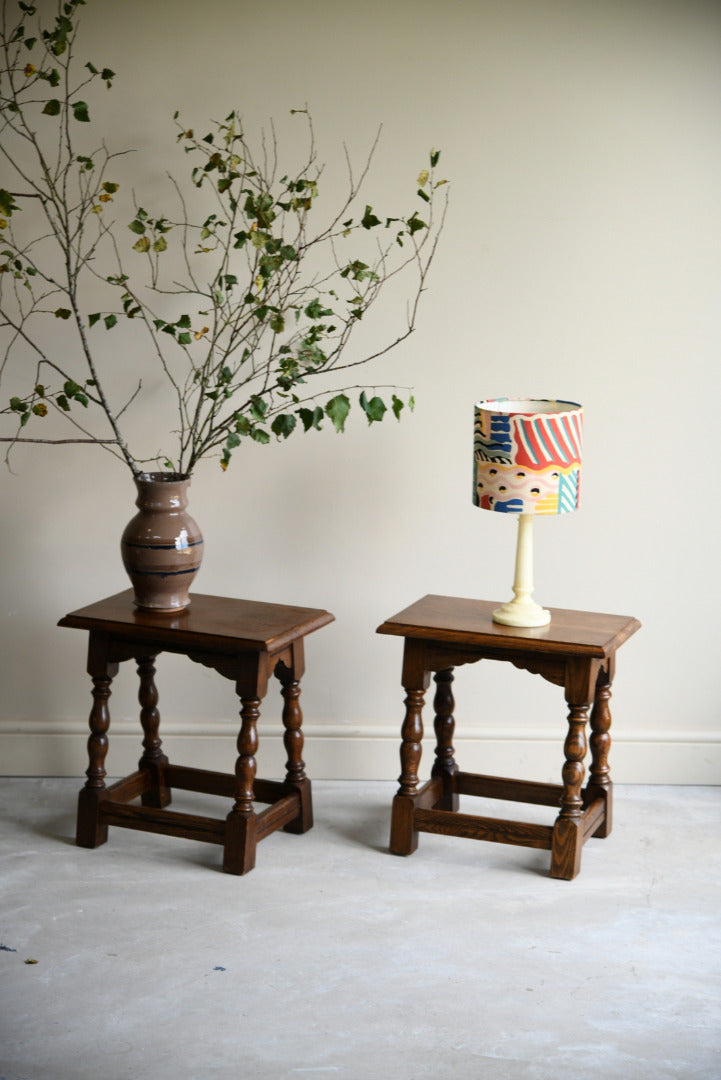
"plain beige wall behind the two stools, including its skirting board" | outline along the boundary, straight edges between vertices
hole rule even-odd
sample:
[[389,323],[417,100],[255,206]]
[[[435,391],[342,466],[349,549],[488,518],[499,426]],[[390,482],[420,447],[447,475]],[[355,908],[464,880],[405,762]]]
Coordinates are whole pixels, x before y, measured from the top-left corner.
[[[329,187],[342,143],[359,159],[381,121],[370,201],[404,190],[432,146],[452,179],[418,332],[368,373],[413,386],[414,415],[244,447],[228,474],[209,463],[193,481],[199,591],[337,616],[308,643],[311,774],[397,772],[400,645],[373,633],[386,616],[426,592],[507,597],[513,523],[470,498],[473,403],[506,394],[586,408],[582,509],[538,524],[536,597],[643,622],[618,657],[616,779],[719,782],[719,6],[89,0],[84,19],[89,55],[119,73],[113,144],[139,147],[132,168],[159,187],[176,108],[198,126],[233,106],[285,124],[304,102]],[[117,363],[141,364],[120,341]],[[0,474],[0,770],[80,772],[85,642],[55,623],[125,588],[132,482],[94,450],[29,448],[13,468]],[[159,685],[171,753],[228,767],[231,685],[176,658]],[[110,771],[137,757],[135,692],[128,670]],[[556,779],[557,688],[488,663],[459,671],[457,701],[464,764]],[[278,712],[269,701],[273,731]],[[259,759],[278,771],[275,738]]]

